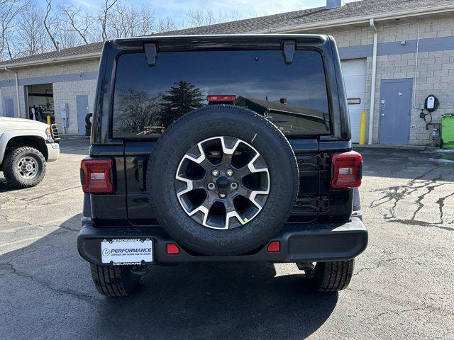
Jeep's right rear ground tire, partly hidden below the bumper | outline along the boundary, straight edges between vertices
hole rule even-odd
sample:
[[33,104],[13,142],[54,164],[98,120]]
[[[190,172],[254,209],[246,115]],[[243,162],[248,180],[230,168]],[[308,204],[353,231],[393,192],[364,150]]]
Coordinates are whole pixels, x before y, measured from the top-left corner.
[[319,292],[335,292],[347,288],[353,276],[355,259],[348,261],[317,262],[314,268],[304,269],[306,280]]

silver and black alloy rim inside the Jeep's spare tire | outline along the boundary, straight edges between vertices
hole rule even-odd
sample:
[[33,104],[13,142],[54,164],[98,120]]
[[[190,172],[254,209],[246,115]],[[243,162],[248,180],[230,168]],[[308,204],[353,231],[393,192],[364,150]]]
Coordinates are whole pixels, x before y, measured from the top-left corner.
[[184,154],[175,179],[184,211],[213,229],[250,222],[270,193],[265,160],[252,145],[236,137],[211,137],[194,145]]

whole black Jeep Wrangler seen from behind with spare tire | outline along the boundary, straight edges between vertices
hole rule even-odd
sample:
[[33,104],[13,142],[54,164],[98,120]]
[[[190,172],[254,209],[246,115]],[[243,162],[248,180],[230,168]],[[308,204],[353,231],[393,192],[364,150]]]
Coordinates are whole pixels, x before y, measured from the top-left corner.
[[77,246],[104,295],[203,261],[293,262],[315,290],[341,290],[367,246],[326,35],[106,42],[80,174]]

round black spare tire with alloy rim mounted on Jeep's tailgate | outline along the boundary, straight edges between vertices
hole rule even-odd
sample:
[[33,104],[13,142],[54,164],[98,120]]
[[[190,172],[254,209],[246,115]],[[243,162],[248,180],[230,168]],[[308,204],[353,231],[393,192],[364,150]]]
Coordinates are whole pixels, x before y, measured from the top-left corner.
[[292,212],[292,147],[261,115],[230,105],[182,116],[150,154],[147,191],[165,231],[187,249],[238,255],[268,242]]

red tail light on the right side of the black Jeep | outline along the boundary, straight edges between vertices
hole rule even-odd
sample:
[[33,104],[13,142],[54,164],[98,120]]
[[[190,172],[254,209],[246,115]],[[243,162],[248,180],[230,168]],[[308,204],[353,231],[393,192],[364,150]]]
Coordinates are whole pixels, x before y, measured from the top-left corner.
[[358,152],[350,151],[331,156],[333,177],[331,188],[357,188],[361,185],[362,156]]

